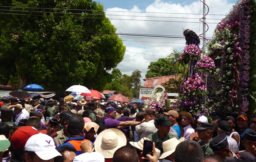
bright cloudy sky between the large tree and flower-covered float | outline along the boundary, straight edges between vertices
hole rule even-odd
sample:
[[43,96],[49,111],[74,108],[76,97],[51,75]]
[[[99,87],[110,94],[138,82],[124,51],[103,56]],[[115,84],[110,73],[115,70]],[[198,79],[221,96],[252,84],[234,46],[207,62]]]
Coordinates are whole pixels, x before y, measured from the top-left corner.
[[[137,6],[133,9],[120,9],[111,8],[106,10],[106,15],[111,19],[111,23],[117,28],[117,33],[129,33],[129,34],[156,34],[156,35],[170,35],[170,36],[182,36],[184,29],[191,29],[198,35],[202,33],[202,23],[180,23],[180,22],[161,22],[161,21],[186,21],[186,22],[199,22],[200,15],[192,15],[193,13],[202,14],[203,4],[199,1],[191,2],[190,4],[175,4],[171,2],[162,2],[161,0],[155,0],[154,3],[150,4],[147,8],[140,10]],[[201,4],[200,4],[201,3]],[[206,22],[208,22],[209,30],[206,33],[206,37],[212,37],[213,31],[220,22],[220,20],[226,15],[228,11],[232,8],[231,3],[227,0],[210,0],[206,2],[209,6],[209,13],[214,15],[207,15]],[[201,10],[200,10],[201,7]],[[111,11],[132,11],[132,12],[111,12]],[[136,13],[144,12],[144,13]],[[145,13],[152,12],[152,13]],[[190,13],[187,14],[167,14],[167,13]],[[217,15],[218,14],[218,15]],[[112,15],[112,16],[111,16]],[[123,15],[123,16],[113,16],[113,15]],[[142,16],[142,17],[135,17]],[[144,17],[143,17],[144,16]],[[148,17],[145,17],[148,16]],[[172,18],[163,18],[172,17]],[[185,19],[178,19],[173,17],[181,17]],[[201,15],[202,17],[202,15]],[[196,19],[188,19],[196,18]],[[119,20],[118,20],[119,19]],[[132,21],[132,20],[120,20],[120,19],[139,19],[139,20],[156,20],[156,21]],[[218,19],[218,20],[213,20]],[[160,21],[159,21],[160,20]],[[209,23],[214,22],[215,24]],[[200,33],[199,33],[200,29]],[[139,69],[142,72],[142,78],[145,78],[148,65],[150,62],[157,61],[159,55],[163,58],[171,53],[172,49],[183,49],[185,46],[185,39],[168,39],[168,38],[154,38],[154,37],[130,37],[130,36],[120,36],[124,45],[126,45],[126,52],[124,60],[117,66],[122,73],[131,75],[131,72]],[[139,38],[138,38],[139,37]],[[183,37],[183,36],[182,36]],[[133,42],[135,41],[135,42]],[[136,41],[147,41],[147,42],[136,42]],[[148,42],[166,42],[166,43],[148,43]],[[167,43],[169,42],[169,43]],[[171,44],[176,43],[176,44]],[[178,44],[181,43],[181,44]],[[202,47],[202,40],[201,40]],[[136,53],[130,53],[136,52]],[[145,53],[150,55],[143,55],[138,53]]]

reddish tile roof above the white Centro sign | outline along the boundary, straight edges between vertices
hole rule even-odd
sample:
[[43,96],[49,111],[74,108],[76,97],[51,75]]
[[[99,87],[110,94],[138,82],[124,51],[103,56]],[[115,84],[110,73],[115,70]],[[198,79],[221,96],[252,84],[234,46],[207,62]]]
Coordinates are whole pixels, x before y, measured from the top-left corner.
[[179,75],[168,75],[163,77],[143,79],[145,81],[143,87],[154,88],[156,85],[161,85],[162,83],[169,81],[170,78],[175,78],[175,76],[176,76],[176,79],[178,79]]

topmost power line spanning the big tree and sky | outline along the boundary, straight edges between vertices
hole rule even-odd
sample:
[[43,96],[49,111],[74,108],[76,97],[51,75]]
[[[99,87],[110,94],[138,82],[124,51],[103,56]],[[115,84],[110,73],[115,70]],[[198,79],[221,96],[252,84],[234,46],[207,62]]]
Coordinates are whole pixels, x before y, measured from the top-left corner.
[[[84,9],[55,9],[55,8],[39,8],[39,7],[18,7],[18,6],[0,6],[0,7],[9,7],[9,8],[24,8],[24,9],[51,9],[51,10],[71,10],[71,11],[102,11],[102,10],[84,10]],[[158,12],[139,12],[139,11],[108,11],[104,12],[124,12],[124,13],[158,13]],[[200,13],[159,13],[159,14],[182,14],[182,15],[202,15]],[[208,15],[217,15],[217,16],[226,16],[221,14],[208,14]]]

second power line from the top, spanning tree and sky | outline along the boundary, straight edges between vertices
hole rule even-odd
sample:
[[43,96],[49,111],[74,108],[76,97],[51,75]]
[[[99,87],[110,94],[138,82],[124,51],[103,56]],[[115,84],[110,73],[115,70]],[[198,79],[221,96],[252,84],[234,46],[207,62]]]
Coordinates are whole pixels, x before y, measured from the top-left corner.
[[[82,15],[83,13],[63,13],[63,12],[47,12],[47,11],[26,11],[26,10],[3,10],[0,11],[17,11],[17,12],[27,12],[27,13],[56,13],[56,14],[74,14],[74,15]],[[161,16],[137,16],[137,15],[108,15],[108,14],[91,14],[84,13],[85,15],[100,15],[100,16],[127,16],[127,17],[152,17],[152,18],[174,18],[174,19],[198,19],[195,17],[161,17]],[[208,19],[208,20],[220,20],[220,19]]]

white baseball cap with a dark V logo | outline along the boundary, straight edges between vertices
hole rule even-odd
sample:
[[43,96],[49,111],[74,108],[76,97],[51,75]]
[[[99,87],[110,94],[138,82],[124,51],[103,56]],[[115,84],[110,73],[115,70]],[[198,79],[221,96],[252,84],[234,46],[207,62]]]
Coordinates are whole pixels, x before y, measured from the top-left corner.
[[25,145],[25,150],[35,152],[42,160],[50,160],[56,156],[62,156],[55,149],[52,137],[42,133],[31,136]]

